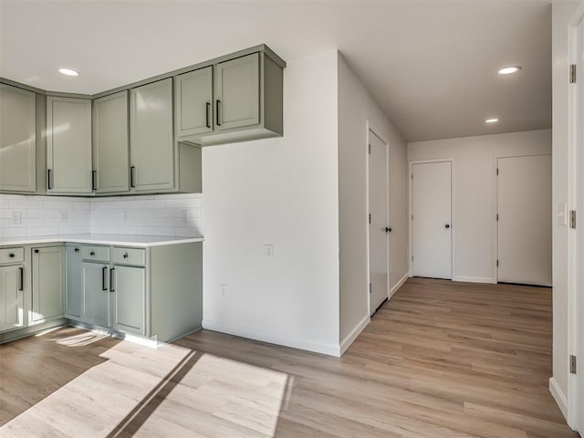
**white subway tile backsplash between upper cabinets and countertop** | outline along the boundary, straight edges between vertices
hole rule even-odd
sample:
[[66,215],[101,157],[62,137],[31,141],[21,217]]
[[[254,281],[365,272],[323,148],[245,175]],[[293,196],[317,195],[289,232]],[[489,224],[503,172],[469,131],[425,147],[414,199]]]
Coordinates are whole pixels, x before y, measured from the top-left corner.
[[[202,206],[201,193],[109,198],[0,194],[0,237],[203,235]],[[21,224],[13,223],[15,212],[20,213]],[[67,216],[65,222],[61,213]]]

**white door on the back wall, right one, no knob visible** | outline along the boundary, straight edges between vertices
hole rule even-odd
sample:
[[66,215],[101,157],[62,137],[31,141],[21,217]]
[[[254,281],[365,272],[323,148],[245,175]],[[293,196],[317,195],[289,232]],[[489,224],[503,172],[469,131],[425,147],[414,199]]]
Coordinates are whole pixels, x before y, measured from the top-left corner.
[[551,286],[551,155],[497,159],[497,280]]

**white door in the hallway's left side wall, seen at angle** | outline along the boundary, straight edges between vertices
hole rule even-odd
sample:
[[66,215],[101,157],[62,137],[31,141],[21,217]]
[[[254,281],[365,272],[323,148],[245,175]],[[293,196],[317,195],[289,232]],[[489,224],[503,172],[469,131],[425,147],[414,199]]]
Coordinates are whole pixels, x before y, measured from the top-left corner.
[[387,144],[370,130],[369,155],[369,260],[370,313],[389,295],[388,151]]

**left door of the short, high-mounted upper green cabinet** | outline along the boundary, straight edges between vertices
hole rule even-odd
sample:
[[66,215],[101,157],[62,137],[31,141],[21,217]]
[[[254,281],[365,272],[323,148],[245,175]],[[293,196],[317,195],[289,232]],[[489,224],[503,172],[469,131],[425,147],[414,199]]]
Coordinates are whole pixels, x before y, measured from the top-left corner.
[[176,135],[184,137],[213,130],[213,67],[184,73],[174,81]]

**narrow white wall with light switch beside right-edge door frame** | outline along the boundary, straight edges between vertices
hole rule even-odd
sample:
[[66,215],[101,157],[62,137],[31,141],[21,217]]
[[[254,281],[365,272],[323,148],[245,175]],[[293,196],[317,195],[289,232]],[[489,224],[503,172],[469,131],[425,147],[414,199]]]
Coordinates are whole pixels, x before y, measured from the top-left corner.
[[[552,4],[552,205],[568,203],[568,26],[581,1]],[[581,75],[579,75],[581,78]],[[553,381],[556,401],[566,413],[568,396],[568,227],[553,226]],[[562,406],[564,405],[564,406]]]

